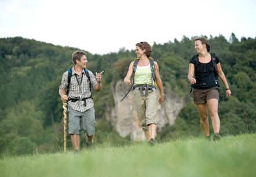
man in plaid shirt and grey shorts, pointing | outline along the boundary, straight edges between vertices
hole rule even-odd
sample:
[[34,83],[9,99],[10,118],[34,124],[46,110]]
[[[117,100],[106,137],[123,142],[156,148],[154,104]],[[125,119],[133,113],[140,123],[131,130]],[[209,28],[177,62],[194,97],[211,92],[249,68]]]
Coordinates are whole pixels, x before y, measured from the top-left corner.
[[80,151],[79,130],[86,134],[86,147],[93,145],[95,115],[91,87],[101,90],[101,75],[104,71],[93,73],[86,69],[87,54],[75,51],[72,54],[74,67],[63,73],[58,93],[61,100],[68,103],[68,129],[75,152]]

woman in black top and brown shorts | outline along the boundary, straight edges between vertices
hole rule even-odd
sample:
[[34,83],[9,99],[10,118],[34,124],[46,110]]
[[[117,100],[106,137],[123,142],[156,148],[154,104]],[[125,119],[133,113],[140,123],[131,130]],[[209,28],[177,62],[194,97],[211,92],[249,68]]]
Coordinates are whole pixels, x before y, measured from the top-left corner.
[[[193,98],[198,107],[200,124],[210,140],[209,121],[207,108],[211,116],[214,130],[214,140],[220,137],[220,117],[218,116],[218,80],[219,76],[226,87],[226,97],[231,96],[228,82],[221,69],[220,60],[214,54],[210,54],[211,46],[206,38],[195,39],[195,49],[198,55],[193,56],[189,63],[188,79],[193,84]],[[193,77],[195,73],[195,78]]]

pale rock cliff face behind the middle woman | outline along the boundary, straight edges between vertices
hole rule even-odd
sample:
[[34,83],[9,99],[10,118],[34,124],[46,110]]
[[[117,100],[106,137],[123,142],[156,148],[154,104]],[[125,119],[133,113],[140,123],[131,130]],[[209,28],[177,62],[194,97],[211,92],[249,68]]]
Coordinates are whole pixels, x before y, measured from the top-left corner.
[[[129,136],[133,141],[145,140],[144,132],[140,127],[136,108],[134,108],[133,91],[131,90],[127,97],[120,102],[129,90],[122,80],[111,84],[111,91],[114,97],[114,108],[107,108],[107,119],[111,121],[114,129],[119,132],[121,137]],[[158,93],[159,98],[159,93]],[[164,102],[157,104],[156,122],[158,130],[166,125],[173,125],[178,116],[178,112],[184,106],[184,99],[177,97],[174,93],[164,90]]]

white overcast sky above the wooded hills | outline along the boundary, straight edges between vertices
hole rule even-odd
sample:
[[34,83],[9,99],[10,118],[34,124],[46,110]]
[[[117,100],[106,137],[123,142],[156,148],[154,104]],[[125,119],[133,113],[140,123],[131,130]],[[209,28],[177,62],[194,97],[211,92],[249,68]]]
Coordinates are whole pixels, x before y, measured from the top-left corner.
[[183,36],[228,40],[232,32],[239,40],[256,37],[255,0],[0,0],[0,38],[21,36],[93,54]]

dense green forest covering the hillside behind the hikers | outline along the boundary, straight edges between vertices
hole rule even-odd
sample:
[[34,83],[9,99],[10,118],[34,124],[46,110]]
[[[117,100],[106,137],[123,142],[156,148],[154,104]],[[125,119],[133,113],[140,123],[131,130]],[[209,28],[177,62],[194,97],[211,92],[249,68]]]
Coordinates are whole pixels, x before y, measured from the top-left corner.
[[[221,84],[221,134],[255,132],[256,38],[237,39],[231,34],[228,40],[222,35],[208,39],[212,46],[210,52],[220,58],[232,91],[232,97],[227,99]],[[198,136],[202,132],[186,78],[189,60],[196,54],[193,43],[193,38],[184,36],[181,41],[175,39],[161,45],[153,44],[152,57],[159,64],[164,90],[171,90],[186,99],[175,124],[158,132],[160,141]],[[79,49],[21,37],[0,38],[2,156],[63,150],[63,108],[58,86],[63,72],[72,67],[71,54],[75,50]],[[105,111],[106,104],[114,104],[111,83],[125,77],[130,62],[136,58],[134,51],[120,49],[118,53],[104,55],[86,52],[88,69],[93,73],[104,71],[103,89],[93,93],[97,122],[95,142],[127,144],[130,139],[119,137],[107,121]],[[68,146],[71,147],[70,141]]]

